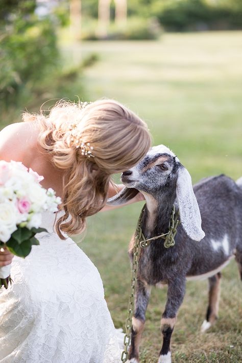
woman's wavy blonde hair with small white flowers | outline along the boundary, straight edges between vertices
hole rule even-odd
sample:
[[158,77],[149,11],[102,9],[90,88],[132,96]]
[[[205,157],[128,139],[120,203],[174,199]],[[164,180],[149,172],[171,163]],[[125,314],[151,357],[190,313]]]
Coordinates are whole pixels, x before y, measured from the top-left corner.
[[111,175],[128,170],[149,150],[147,125],[113,100],[99,100],[85,107],[61,101],[48,116],[23,114],[23,121],[31,120],[39,121],[40,146],[64,171],[65,214],[57,221],[57,233],[62,239],[61,232],[81,233],[86,217],[105,206]]

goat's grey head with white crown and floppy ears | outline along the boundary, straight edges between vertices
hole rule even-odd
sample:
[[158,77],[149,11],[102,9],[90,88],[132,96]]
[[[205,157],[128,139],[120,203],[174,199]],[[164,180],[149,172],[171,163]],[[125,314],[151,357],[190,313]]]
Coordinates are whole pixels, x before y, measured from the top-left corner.
[[171,195],[173,191],[176,193],[180,219],[186,234],[193,240],[204,237],[190,174],[170,149],[163,145],[151,148],[137,165],[123,172],[121,179],[126,187],[108,200],[109,205],[124,204],[138,191],[159,199],[162,191],[170,189]]

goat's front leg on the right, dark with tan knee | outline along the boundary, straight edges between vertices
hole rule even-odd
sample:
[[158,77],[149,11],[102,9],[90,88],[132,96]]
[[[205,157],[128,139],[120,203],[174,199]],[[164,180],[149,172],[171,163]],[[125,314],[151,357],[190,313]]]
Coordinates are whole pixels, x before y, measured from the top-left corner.
[[181,306],[185,295],[185,278],[174,279],[168,282],[167,300],[165,310],[161,318],[161,332],[163,335],[163,344],[160,351],[158,363],[171,363],[171,338],[176,323],[177,311]]

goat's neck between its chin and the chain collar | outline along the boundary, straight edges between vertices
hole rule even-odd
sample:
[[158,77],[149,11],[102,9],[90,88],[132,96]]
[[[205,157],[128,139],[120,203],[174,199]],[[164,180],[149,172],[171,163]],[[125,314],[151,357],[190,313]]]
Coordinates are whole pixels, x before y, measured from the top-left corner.
[[146,238],[166,233],[171,218],[172,207],[176,199],[176,194],[168,197],[156,198],[155,196],[144,194],[147,209],[144,211],[142,219],[142,230]]

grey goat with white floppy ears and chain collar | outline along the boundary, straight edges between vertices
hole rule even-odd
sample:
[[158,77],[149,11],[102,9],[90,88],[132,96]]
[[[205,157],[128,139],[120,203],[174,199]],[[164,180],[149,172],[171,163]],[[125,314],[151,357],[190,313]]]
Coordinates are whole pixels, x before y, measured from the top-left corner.
[[[184,298],[186,279],[209,280],[209,302],[202,331],[217,318],[220,271],[234,255],[242,279],[242,185],[220,175],[202,179],[193,191],[185,167],[162,145],[151,148],[136,166],[123,172],[121,179],[126,187],[110,198],[108,204],[123,204],[141,191],[146,199],[141,228],[147,239],[167,232],[173,204],[180,211],[181,224],[175,245],[165,248],[164,240],[159,238],[141,250],[129,347],[130,362],[139,362],[139,343],[151,286],[167,284],[158,363],[170,363],[171,336]],[[129,246],[131,259],[133,246],[134,237]]]

